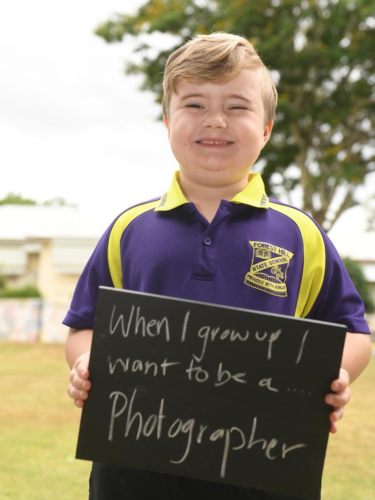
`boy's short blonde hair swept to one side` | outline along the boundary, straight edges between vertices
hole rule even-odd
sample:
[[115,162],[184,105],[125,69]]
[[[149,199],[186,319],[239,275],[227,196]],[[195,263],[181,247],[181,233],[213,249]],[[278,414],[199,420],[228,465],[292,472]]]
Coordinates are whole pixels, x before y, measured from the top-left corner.
[[242,68],[259,70],[265,125],[275,118],[277,90],[255,47],[243,36],[217,31],[197,34],[172,52],[163,76],[162,110],[169,119],[169,103],[180,80],[225,82]]

